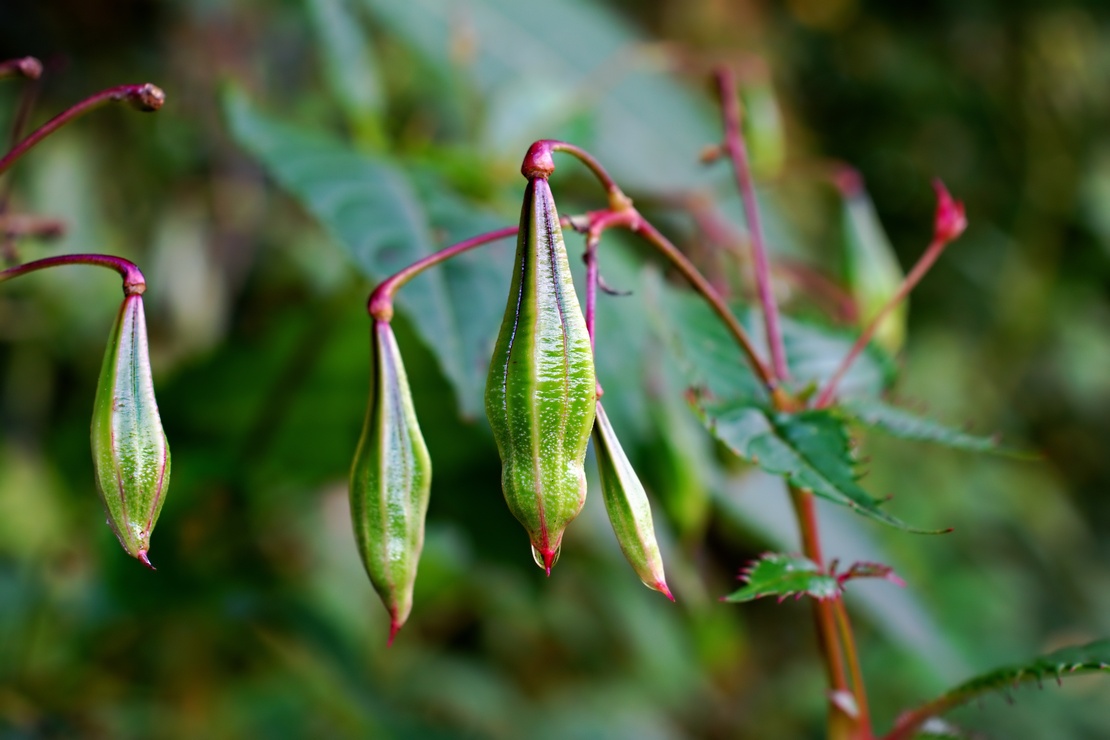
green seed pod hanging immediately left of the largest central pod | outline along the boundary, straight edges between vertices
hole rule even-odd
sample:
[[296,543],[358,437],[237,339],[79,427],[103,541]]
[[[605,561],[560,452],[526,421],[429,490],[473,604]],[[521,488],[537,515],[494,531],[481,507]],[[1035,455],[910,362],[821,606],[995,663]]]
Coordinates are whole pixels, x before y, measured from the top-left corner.
[[351,519],[370,582],[390,612],[390,643],[413,606],[432,459],[390,323],[372,330],[370,405],[351,466]]

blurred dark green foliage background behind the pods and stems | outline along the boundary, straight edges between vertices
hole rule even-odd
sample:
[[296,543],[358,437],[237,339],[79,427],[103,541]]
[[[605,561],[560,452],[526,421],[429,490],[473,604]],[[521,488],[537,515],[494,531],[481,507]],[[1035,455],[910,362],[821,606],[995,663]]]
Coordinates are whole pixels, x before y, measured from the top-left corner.
[[[686,407],[692,368],[669,351],[689,327],[660,297],[678,284],[633,240],[603,244],[607,282],[634,294],[603,297],[599,373],[677,604],[638,582],[597,496],[551,579],[504,506],[481,394],[512,244],[402,294],[435,478],[413,616],[389,650],[346,509],[365,296],[514,223],[531,141],[588,148],[722,290],[750,295],[728,169],[698,163],[720,135],[719,63],[741,81],[791,314],[850,331],[830,163],[861,173],[904,267],[941,178],[970,227],[915,293],[887,393],[1042,457],[860,434],[872,494],[955,527],[909,535],[821,505],[829,557],[908,582],[847,597],[877,727],[1110,633],[1104,3],[7,0],[0,59],[24,54],[46,73],[0,85],[0,132],[29,91],[31,125],[114,84],[167,91],[157,114],[68,126],[2,187],[11,213],[65,225],[6,259],[99,251],[144,270],[174,464],[151,574],[103,525],[89,454],[117,277],[4,284],[0,738],[821,737],[808,607],[718,602],[748,559],[797,549],[785,495]],[[564,213],[602,207],[582,168],[558,165]],[[567,245],[577,265],[581,237]],[[952,719],[981,737],[1110,737],[1104,677],[1011,698]]]

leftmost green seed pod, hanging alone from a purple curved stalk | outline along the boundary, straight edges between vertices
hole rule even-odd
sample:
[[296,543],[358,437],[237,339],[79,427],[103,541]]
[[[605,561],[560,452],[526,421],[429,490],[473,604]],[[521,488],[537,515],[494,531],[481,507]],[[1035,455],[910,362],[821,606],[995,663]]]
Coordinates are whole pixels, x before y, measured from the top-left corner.
[[170,485],[170,447],[151,379],[142,295],[123,298],[92,409],[92,463],[108,524],[147,567],[150,534]]

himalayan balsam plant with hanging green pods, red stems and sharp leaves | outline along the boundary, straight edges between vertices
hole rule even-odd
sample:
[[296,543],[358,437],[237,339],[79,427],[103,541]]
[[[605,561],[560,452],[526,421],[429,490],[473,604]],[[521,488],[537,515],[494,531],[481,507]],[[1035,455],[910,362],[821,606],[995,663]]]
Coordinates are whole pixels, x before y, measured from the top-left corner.
[[[33,79],[40,72],[41,65],[30,59],[0,64],[0,75]],[[758,302],[759,341],[751,331],[753,323],[743,321],[690,259],[644,217],[598,159],[572,143],[554,140],[536,141],[524,156],[521,171],[526,185],[517,226],[487,231],[428,254],[380,283],[371,294],[370,402],[355,445],[350,500],[360,555],[389,611],[390,642],[413,607],[432,485],[432,460],[414,410],[401,347],[391,327],[394,298],[424,271],[509,237],[516,239],[513,275],[500,332],[491,347],[485,384],[485,412],[501,455],[505,501],[524,527],[536,565],[551,576],[564,533],[573,526],[587,496],[584,464],[593,442],[601,478],[601,491],[594,493],[604,498],[614,535],[635,576],[663,596],[682,599],[682,594],[673,594],[666,581],[645,488],[622,449],[619,429],[609,422],[601,403],[604,388],[597,378],[595,353],[604,352],[605,343],[596,341],[595,316],[598,293],[608,290],[601,277],[602,240],[609,230],[619,229],[656,251],[685,278],[744,358],[744,365],[729,372],[750,379],[736,384],[746,391],[726,396],[694,387],[688,402],[706,429],[737,457],[785,479],[800,541],[797,551],[767,553],[740,568],[740,587],[723,601],[735,604],[763,597],[809,601],[827,682],[830,739],[905,740],[921,733],[950,734],[955,730],[940,716],[987,691],[1045,677],[1110,671],[1110,640],[1066,648],[970,679],[904,712],[885,733],[876,732],[844,597],[848,584],[858,578],[885,579],[894,585],[902,581],[882,564],[840,566],[827,558],[815,503],[817,498],[826,499],[875,523],[922,533],[860,487],[850,425],[956,448],[1001,450],[992,439],[946,428],[889,406],[876,394],[845,392],[849,372],[872,343],[889,353],[900,347],[906,297],[963,232],[963,206],[939,181],[934,184],[937,209],[931,239],[918,262],[902,275],[860,178],[844,166],[827,173],[844,204],[848,283],[859,333],[834,368],[817,374],[803,372],[791,362],[787,323],[776,303],[753,182],[754,170],[781,165],[781,141],[749,124],[751,141],[763,142],[770,150],[755,166],[743,133],[737,81],[723,69],[716,74],[716,83],[724,134],[722,143],[710,146],[704,159],[707,163],[728,162],[735,173],[749,232],[746,257]],[[153,85],[123,85],[93,95],[23,139],[0,160],[0,173],[50,132],[108,101],[153,110],[161,104],[162,93]],[[759,104],[758,95],[749,104]],[[245,114],[233,110],[235,115],[242,120]],[[601,184],[602,207],[575,215],[558,213],[548,182],[556,154],[567,154],[585,165]],[[40,222],[28,223],[29,231],[47,231]],[[581,301],[569,270],[564,230],[585,237]],[[12,244],[6,246],[6,259],[18,262]],[[141,273],[119,257],[80,254],[18,264],[0,272],[0,281],[70,264],[107,266],[123,277],[124,301],[95,394],[93,460],[95,485],[109,525],[124,549],[149,566],[150,535],[169,484],[170,457],[147,356],[142,314],[145,282]],[[522,538],[522,551],[523,544]],[[669,607],[660,600],[660,608]]]

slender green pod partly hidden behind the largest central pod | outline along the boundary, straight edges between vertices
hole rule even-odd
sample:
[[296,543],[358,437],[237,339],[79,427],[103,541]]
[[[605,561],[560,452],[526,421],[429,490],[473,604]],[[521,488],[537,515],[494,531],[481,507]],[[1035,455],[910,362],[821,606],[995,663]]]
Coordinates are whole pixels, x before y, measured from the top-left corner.
[[675,597],[670,595],[663,576],[663,557],[659,555],[659,545],[655,541],[655,526],[652,524],[652,507],[647,503],[647,494],[620,448],[601,404],[597,404],[597,420],[594,423],[594,454],[597,456],[597,473],[602,478],[605,510],[609,514],[609,523],[620,550],[645,586],[674,601]]

